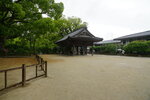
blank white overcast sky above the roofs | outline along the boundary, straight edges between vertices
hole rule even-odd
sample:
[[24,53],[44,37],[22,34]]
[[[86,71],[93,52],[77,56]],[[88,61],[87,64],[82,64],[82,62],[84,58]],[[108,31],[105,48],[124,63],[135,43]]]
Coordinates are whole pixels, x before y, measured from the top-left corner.
[[150,0],[55,0],[66,17],[79,17],[104,40],[150,30]]

